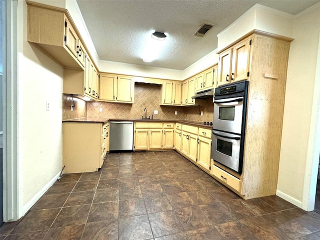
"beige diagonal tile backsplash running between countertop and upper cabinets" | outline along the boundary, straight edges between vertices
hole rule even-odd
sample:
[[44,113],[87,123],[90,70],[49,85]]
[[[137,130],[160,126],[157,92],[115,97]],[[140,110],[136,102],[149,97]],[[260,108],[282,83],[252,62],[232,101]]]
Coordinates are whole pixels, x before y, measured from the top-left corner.
[[[145,114],[144,108],[147,109],[147,117],[153,114],[155,119],[179,119],[191,121],[212,121],[213,103],[212,98],[205,101],[204,106],[163,106],[160,105],[161,85],[138,83],[134,84],[134,103],[113,103],[102,101],[88,101],[75,98],[75,107],[71,107],[71,96],[63,94],[63,120],[79,117],[100,117],[100,118],[141,118]],[[99,111],[100,107],[102,111]],[[154,114],[158,110],[158,114]],[[174,111],[178,114],[175,115]],[[203,111],[201,116],[199,113]]]

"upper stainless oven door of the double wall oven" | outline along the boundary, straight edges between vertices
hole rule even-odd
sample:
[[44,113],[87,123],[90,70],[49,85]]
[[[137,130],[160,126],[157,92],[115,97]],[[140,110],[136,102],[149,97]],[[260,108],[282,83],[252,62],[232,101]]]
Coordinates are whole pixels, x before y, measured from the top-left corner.
[[216,99],[213,107],[213,129],[241,134],[243,96]]

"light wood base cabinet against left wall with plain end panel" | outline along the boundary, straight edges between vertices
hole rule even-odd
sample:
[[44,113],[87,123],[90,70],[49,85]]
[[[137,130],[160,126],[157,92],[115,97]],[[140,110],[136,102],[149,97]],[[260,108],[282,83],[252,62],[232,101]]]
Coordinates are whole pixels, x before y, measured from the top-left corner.
[[97,171],[102,166],[108,143],[104,127],[101,122],[62,123],[63,173]]

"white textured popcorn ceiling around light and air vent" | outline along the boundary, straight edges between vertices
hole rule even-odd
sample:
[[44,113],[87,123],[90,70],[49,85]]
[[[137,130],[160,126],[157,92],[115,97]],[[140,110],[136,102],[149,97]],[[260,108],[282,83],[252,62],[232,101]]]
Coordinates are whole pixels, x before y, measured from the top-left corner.
[[[183,70],[217,47],[216,35],[255,3],[296,14],[319,0],[77,0],[101,60]],[[204,37],[193,33],[215,26]],[[143,62],[152,30],[167,33],[163,50]]]

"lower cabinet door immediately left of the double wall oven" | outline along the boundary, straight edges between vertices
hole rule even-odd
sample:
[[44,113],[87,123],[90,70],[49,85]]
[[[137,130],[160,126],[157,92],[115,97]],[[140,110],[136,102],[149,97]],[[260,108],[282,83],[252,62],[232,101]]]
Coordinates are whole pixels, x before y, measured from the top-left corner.
[[210,158],[211,158],[211,139],[199,136],[197,164],[199,164],[206,170],[209,170]]

